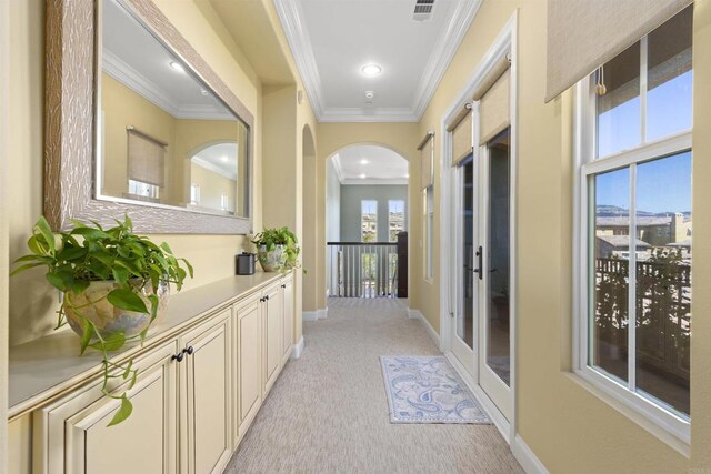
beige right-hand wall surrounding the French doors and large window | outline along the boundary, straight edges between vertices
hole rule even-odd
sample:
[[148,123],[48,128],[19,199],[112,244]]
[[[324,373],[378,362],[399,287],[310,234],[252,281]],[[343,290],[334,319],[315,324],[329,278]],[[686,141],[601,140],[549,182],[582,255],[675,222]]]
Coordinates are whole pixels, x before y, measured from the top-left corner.
[[[570,374],[572,349],[572,99],[543,103],[544,0],[485,0],[420,122],[419,134],[440,121],[504,23],[519,11],[518,157],[518,431],[553,473],[682,473],[711,468],[711,295],[694,292],[692,337],[692,452],[687,458],[642,428],[613,402]],[[711,284],[711,1],[694,12],[694,286]],[[701,85],[703,84],[703,85]],[[440,173],[435,167],[435,209]],[[419,219],[420,213],[414,215]],[[439,215],[435,216],[435,244]],[[413,229],[418,228],[415,221]],[[439,245],[439,244],[438,244]],[[441,243],[444,249],[447,244]],[[439,322],[435,286],[421,288],[420,309]],[[444,296],[444,295],[442,295]],[[437,326],[435,326],[437,327]],[[614,406],[613,406],[614,405]],[[643,422],[640,422],[643,423]],[[701,472],[701,471],[699,471]]]

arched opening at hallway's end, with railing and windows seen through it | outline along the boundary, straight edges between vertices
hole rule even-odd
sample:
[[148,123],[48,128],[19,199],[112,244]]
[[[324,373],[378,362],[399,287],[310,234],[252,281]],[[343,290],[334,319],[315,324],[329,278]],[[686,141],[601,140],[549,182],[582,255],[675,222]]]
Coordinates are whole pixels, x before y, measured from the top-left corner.
[[381,144],[344,147],[327,160],[329,297],[407,296],[408,181],[408,160]]

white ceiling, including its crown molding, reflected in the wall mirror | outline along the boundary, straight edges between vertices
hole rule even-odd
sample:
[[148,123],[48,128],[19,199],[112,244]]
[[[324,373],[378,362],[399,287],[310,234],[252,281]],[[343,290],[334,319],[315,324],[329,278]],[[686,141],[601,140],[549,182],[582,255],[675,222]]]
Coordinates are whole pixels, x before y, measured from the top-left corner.
[[116,0],[102,2],[103,71],[178,119],[236,120],[230,110]]

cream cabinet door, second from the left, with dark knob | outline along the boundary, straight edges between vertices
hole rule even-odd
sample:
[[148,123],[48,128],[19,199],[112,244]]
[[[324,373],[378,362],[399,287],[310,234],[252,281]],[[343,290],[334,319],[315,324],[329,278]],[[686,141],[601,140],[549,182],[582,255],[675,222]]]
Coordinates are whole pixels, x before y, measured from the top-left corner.
[[187,474],[221,473],[232,453],[231,310],[180,339],[180,461]]

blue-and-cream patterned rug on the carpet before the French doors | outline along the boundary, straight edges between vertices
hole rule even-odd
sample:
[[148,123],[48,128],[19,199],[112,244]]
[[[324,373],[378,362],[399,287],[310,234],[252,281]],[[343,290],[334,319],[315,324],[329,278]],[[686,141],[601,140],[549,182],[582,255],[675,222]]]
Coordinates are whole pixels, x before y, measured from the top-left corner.
[[391,423],[491,421],[443,355],[381,355]]

